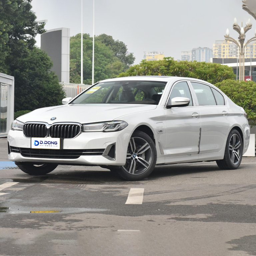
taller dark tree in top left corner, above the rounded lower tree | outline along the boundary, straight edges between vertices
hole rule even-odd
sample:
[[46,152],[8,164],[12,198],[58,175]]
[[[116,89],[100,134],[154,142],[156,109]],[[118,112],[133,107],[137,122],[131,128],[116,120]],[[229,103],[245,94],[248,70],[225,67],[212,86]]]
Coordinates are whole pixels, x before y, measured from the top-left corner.
[[35,21],[31,1],[0,1],[0,72],[10,73],[12,64],[34,47],[35,36],[45,32],[44,23]]

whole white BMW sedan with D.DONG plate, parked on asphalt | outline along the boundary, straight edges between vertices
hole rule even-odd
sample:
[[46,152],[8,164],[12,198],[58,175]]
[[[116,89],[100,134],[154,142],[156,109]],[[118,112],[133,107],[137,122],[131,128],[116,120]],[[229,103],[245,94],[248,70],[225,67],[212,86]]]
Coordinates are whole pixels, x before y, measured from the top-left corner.
[[198,79],[108,79],[63,103],[13,121],[9,159],[25,173],[94,165],[141,180],[155,165],[216,161],[236,169],[249,144],[243,108]]

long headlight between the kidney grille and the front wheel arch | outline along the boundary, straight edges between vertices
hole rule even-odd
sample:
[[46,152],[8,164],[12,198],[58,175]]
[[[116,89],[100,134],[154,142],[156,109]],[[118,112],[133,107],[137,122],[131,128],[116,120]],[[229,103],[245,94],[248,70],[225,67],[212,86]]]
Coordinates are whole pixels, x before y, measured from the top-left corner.
[[83,132],[116,132],[123,130],[127,126],[128,124],[124,121],[83,124]]

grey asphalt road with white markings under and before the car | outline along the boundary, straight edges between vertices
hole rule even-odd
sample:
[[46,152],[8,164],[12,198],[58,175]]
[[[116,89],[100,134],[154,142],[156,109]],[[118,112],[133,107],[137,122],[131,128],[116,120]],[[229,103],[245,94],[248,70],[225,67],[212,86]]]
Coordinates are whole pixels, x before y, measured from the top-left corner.
[[256,255],[255,158],[156,167],[127,182],[99,167],[29,176],[0,139],[0,255]]

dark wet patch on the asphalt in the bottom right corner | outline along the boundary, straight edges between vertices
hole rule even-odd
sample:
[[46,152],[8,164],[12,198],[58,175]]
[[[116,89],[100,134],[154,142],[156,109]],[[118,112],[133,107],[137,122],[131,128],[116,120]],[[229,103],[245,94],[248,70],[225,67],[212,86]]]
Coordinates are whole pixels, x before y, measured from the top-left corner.
[[233,239],[227,243],[232,245],[232,248],[229,248],[230,251],[244,251],[250,255],[256,255],[256,235]]

